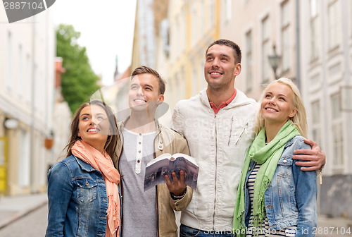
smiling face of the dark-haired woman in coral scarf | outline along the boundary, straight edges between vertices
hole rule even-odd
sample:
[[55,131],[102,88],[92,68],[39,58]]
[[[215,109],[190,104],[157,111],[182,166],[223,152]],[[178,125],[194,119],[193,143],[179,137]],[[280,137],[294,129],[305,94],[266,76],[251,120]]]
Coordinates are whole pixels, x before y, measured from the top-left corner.
[[80,112],[77,135],[100,152],[108,139],[109,128],[106,111],[99,105],[88,105]]

